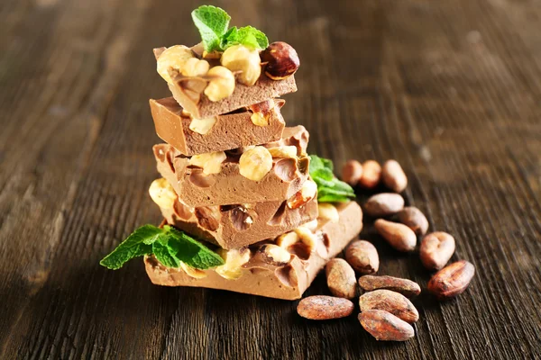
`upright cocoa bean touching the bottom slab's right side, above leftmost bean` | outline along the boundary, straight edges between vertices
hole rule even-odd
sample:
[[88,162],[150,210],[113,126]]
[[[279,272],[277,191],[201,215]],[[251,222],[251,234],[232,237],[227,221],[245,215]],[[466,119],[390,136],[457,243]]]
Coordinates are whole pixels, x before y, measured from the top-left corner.
[[353,299],[356,295],[356,277],[352,266],[341,258],[334,258],[325,267],[329,291],[339,298]]

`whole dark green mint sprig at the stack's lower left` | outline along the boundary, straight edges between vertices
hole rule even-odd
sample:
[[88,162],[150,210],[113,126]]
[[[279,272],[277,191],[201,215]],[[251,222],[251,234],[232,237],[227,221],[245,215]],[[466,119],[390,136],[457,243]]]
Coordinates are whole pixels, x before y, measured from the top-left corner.
[[183,262],[196,269],[205,270],[225,264],[224,259],[210,248],[169,225],[163,226],[163,229],[143,225],[133,231],[132,235],[99,264],[116,270],[134,257],[151,254],[168,267],[179,267],[180,262]]

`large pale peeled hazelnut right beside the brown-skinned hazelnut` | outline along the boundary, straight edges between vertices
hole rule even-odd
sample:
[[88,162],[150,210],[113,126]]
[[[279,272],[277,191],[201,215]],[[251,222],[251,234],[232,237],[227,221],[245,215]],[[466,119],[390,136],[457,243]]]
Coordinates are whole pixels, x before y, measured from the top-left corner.
[[261,59],[257,49],[234,45],[225,49],[220,62],[231,71],[240,71],[239,83],[243,85],[252,86],[261,76]]

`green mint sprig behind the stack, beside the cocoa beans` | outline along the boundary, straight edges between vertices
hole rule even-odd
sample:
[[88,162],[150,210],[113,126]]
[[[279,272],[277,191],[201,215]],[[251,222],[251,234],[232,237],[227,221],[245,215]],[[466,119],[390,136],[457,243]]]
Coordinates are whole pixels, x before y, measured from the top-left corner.
[[331,160],[310,155],[309,173],[317,184],[318,202],[349,202],[355,198],[353,188],[336,178]]

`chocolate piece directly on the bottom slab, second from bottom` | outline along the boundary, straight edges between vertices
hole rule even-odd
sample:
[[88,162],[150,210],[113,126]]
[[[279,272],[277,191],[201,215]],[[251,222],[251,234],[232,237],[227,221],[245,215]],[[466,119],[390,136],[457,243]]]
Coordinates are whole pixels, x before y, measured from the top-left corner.
[[[311,180],[307,180],[311,181]],[[295,195],[294,195],[295,196]],[[225,249],[245,247],[317,218],[316,198],[290,209],[287,201],[189,208],[177,200],[160,208],[170,225]]]

